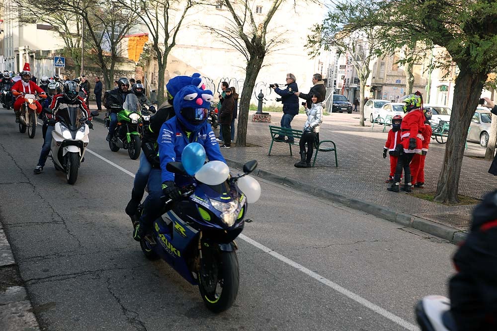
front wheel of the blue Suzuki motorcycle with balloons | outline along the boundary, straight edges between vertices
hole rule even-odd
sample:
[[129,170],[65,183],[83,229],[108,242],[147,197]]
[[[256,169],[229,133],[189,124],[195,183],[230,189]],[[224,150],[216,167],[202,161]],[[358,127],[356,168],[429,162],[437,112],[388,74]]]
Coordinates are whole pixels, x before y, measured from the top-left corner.
[[198,289],[207,309],[221,313],[235,302],[240,284],[236,252],[202,251]]

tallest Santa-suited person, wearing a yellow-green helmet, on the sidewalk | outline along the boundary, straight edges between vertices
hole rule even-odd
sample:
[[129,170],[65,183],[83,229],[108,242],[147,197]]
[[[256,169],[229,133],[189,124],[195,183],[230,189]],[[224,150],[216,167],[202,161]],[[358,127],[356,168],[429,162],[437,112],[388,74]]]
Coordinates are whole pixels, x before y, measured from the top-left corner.
[[423,99],[419,91],[406,95],[401,101],[404,102],[404,113],[406,114],[401,124],[401,145],[398,146],[399,152],[402,154],[399,155],[395,168],[394,182],[387,190],[399,192],[402,169],[404,169],[404,187],[401,190],[410,193],[412,192],[412,183],[409,165],[415,153],[421,154],[425,118],[421,111]]

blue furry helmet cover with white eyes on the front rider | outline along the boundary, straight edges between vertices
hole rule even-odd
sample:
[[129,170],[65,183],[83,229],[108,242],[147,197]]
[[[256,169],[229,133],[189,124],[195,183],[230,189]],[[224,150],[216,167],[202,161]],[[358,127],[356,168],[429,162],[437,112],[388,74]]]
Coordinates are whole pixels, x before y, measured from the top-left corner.
[[174,113],[176,114],[176,118],[186,128],[186,130],[191,132],[199,131],[200,128],[202,128],[207,122],[207,116],[202,123],[195,125],[188,122],[183,117],[183,115],[181,115],[181,109],[206,108],[208,110],[213,99],[213,93],[210,90],[203,90],[195,85],[188,85],[181,88],[174,96],[173,101]]

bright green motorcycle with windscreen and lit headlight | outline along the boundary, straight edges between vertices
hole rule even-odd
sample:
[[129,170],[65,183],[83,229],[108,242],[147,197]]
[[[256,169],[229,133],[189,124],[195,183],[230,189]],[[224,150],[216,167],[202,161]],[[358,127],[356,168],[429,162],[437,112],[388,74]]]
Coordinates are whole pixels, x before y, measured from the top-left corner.
[[[119,109],[117,113],[117,126],[109,141],[110,150],[117,152],[120,148],[128,150],[129,157],[136,160],[141,151],[142,116],[140,115],[140,102],[133,93],[126,96],[124,104],[112,105],[111,110]],[[106,126],[110,121],[106,118]],[[112,133],[112,132],[111,132]]]

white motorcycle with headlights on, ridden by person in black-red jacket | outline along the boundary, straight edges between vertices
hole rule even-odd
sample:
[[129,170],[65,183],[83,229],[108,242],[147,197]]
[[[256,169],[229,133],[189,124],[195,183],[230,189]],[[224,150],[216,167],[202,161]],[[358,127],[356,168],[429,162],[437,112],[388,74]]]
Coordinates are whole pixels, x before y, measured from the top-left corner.
[[[98,112],[91,112],[91,116],[98,116]],[[59,108],[55,117],[59,121],[52,132],[50,155],[55,168],[66,173],[67,182],[73,185],[78,179],[78,169],[89,142],[89,129],[93,125],[78,106]]]

